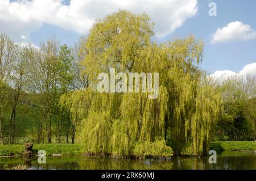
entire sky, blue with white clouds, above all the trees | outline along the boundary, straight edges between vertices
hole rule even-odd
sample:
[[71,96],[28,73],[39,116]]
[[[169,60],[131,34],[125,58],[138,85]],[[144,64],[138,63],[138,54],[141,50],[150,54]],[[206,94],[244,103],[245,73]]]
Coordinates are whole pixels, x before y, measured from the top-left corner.
[[[38,0],[32,1],[34,1],[34,3],[27,2],[22,5],[22,2],[18,2],[16,4],[20,6],[21,10],[18,12],[20,12],[21,15],[22,10],[25,9],[24,17],[26,17],[26,19],[24,19],[20,18],[20,14],[11,14],[11,12],[4,11],[4,6],[11,10],[16,9],[17,7],[14,7],[12,4],[15,1],[0,0],[0,32],[10,32],[10,36],[18,43],[31,42],[39,46],[41,41],[56,36],[61,44],[66,43],[73,45],[80,36],[89,31],[94,19],[103,18],[106,14],[114,12],[115,9],[119,9],[120,7],[123,9],[127,7],[128,10],[134,12],[141,12],[144,8],[144,11],[148,11],[148,14],[152,15],[151,18],[155,20],[156,34],[160,35],[155,37],[154,40],[163,42],[173,37],[186,37],[189,34],[195,35],[197,39],[204,40],[205,49],[204,60],[201,64],[202,69],[207,70],[209,73],[214,73],[216,70],[230,70],[238,73],[246,65],[251,64],[250,68],[249,66],[247,68],[249,68],[250,71],[255,70],[254,73],[256,74],[256,65],[253,64],[256,62],[256,34],[254,35],[256,30],[256,1],[254,0],[174,0],[173,2],[170,1],[170,3],[168,3],[168,1],[148,1],[148,4],[152,4],[152,7],[150,5],[144,6],[147,2],[146,0],[142,0],[141,3],[137,1],[137,4],[135,2],[130,3],[129,1],[122,1],[129,3],[121,4],[120,2],[116,2],[114,5],[106,1],[103,1],[103,3],[102,1],[98,1],[97,3],[84,0],[84,3],[83,1],[78,3],[77,0],[73,0],[72,3],[69,3],[69,1],[47,0],[45,1],[45,6],[42,5],[43,1],[40,2],[40,5]],[[210,2],[216,3],[217,16],[209,16],[208,11],[210,7],[208,7],[208,5]],[[165,5],[165,3],[167,4]],[[72,4],[72,6],[70,4]],[[35,11],[31,13],[26,12],[26,8],[28,7]],[[40,9],[38,10],[38,16],[35,15],[36,8]],[[180,10],[178,11],[177,9],[179,8]],[[73,15],[74,13],[71,9],[74,9],[77,14]],[[60,18],[51,19],[51,17],[49,18],[47,15],[42,18],[40,15],[44,13],[53,14],[56,11],[61,12]],[[69,14],[67,15],[66,12]],[[177,15],[176,18],[172,18],[175,12],[180,12],[180,15]],[[7,18],[1,19],[1,15],[2,17],[5,15]],[[71,15],[73,15],[72,17],[78,17],[73,18],[73,20],[81,19],[77,22],[86,23],[86,25],[77,26],[77,22],[72,19],[68,22],[67,17]],[[13,19],[16,16],[18,17],[16,19],[19,20],[20,18],[20,22],[18,22],[18,20],[14,22]],[[61,19],[62,16],[65,19]],[[89,20],[83,22],[83,19],[86,18],[89,18]],[[170,24],[177,22],[181,23],[177,26],[170,26]],[[228,24],[232,22],[236,22],[233,23],[234,27],[241,27],[241,29],[239,29],[240,31],[238,31],[238,28],[232,29],[230,24],[229,29],[232,30],[227,29],[226,31],[218,32],[218,35],[215,34],[218,38],[221,37],[223,40],[221,39],[217,43],[211,43],[217,29],[227,27]],[[16,26],[13,24],[16,24]],[[17,32],[22,32],[24,35],[15,32],[15,28]],[[232,35],[228,35],[229,31],[231,31]],[[20,39],[20,36],[17,34],[23,38]],[[251,35],[250,38],[247,35]],[[225,37],[229,37],[229,39],[225,39]]]

